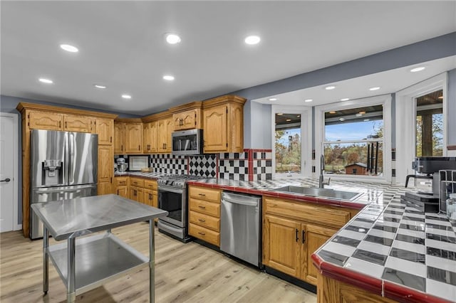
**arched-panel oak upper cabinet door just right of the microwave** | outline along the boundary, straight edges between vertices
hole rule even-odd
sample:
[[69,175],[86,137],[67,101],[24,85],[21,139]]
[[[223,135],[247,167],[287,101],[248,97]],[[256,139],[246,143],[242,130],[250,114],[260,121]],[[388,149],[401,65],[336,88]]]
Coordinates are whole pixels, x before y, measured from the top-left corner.
[[226,105],[204,109],[204,153],[227,151],[227,113]]

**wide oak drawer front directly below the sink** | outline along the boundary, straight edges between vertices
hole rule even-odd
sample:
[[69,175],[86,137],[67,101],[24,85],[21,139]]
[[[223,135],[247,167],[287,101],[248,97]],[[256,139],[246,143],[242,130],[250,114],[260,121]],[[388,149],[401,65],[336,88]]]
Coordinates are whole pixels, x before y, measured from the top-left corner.
[[350,212],[348,211],[279,198],[264,197],[263,207],[266,208],[266,213],[336,227],[342,227],[350,220]]

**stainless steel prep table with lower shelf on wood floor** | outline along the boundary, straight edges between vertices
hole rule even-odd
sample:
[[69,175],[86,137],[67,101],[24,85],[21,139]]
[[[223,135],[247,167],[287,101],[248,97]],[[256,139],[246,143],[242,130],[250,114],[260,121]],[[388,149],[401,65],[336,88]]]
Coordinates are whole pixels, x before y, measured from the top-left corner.
[[[154,219],[167,216],[167,211],[153,208],[117,195],[90,196],[63,201],[32,204],[43,220],[43,292],[48,292],[48,260],[51,260],[67,289],[67,301],[149,265],[150,302],[154,302]],[[110,233],[111,228],[149,221],[147,258]],[[107,233],[92,235],[100,230]],[[48,245],[49,234],[67,243]]]

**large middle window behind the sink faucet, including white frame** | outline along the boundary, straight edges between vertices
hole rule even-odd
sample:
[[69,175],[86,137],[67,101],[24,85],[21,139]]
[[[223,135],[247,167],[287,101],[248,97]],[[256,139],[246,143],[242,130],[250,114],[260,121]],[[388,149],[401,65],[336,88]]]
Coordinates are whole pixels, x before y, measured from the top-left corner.
[[382,95],[315,107],[316,159],[324,154],[325,174],[390,181],[390,105]]

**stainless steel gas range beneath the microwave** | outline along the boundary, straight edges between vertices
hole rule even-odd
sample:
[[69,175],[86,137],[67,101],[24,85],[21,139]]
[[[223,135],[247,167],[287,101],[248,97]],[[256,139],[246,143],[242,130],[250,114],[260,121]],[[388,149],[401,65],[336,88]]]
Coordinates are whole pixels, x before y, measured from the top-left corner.
[[187,224],[187,181],[207,179],[203,176],[165,175],[158,179],[158,208],[167,211],[167,217],[158,220],[158,230],[183,242],[191,238]]

